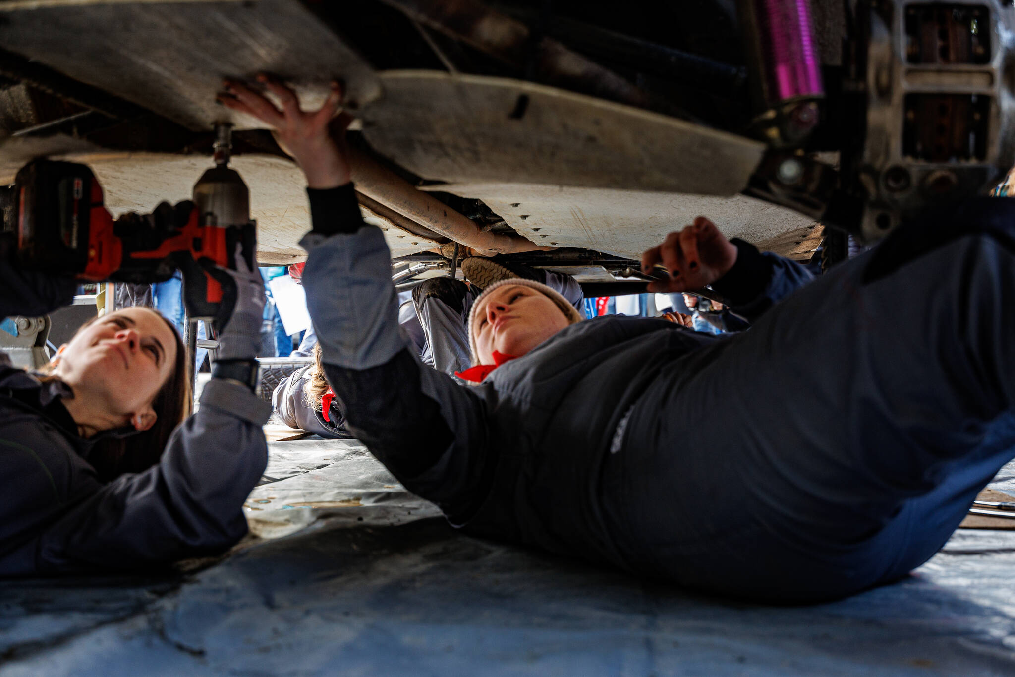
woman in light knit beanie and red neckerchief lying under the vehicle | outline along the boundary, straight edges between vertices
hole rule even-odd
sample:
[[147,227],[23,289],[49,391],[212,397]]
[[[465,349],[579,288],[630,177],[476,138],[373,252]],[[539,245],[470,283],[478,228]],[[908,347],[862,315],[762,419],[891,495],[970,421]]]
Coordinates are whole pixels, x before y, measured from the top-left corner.
[[[752,321],[728,338],[580,322],[544,285],[491,284],[468,324],[481,383],[465,388],[399,336],[388,248],[328,134],[335,97],[304,114],[267,86],[283,111],[238,83],[226,104],[275,127],[307,174],[303,284],[349,429],[463,529],[814,602],[926,561],[1015,456],[1011,200],[941,210],[813,282],[699,217],[642,264],[671,272],[655,290],[727,296]],[[336,307],[353,293],[374,302]]]

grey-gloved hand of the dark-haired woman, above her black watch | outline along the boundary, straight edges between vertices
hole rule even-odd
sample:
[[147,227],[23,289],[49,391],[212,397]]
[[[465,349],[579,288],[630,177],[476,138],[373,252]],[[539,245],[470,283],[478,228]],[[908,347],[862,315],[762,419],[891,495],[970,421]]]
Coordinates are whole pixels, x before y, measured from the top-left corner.
[[[261,348],[265,296],[264,280],[254,265],[255,249],[250,242],[235,243],[232,256],[235,270],[204,265],[205,270],[222,285],[223,306],[230,297],[233,300],[231,312],[222,308],[216,315],[216,324],[221,325],[218,327],[216,361],[254,359]],[[234,295],[228,293],[229,287],[235,288]]]

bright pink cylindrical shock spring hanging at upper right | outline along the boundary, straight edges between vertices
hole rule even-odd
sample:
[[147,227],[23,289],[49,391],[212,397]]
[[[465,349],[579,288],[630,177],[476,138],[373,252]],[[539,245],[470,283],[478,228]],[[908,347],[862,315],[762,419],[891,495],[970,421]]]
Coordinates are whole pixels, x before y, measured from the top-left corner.
[[769,104],[824,93],[807,2],[754,0]]

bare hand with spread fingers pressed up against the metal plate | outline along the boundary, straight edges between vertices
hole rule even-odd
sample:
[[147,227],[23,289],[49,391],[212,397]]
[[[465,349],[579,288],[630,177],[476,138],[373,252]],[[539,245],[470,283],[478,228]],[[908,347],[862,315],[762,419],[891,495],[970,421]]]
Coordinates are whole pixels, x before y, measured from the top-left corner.
[[342,106],[342,85],[332,82],[331,93],[321,109],[304,112],[292,89],[264,73],[257,79],[278,98],[281,111],[264,94],[238,80],[225,80],[222,83],[225,91],[218,94],[217,100],[265,123],[282,149],[302,168],[311,188],[338,188],[349,183],[345,130],[352,117],[344,112],[335,115]]

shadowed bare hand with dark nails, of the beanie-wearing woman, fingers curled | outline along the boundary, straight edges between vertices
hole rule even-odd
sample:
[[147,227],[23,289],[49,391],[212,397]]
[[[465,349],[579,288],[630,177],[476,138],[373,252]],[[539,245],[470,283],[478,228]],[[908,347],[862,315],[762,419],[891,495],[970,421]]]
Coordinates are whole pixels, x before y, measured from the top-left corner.
[[670,274],[667,280],[649,283],[649,291],[667,292],[700,289],[726,275],[737,262],[737,248],[704,216],[671,232],[659,247],[641,255],[641,272],[657,267]]

